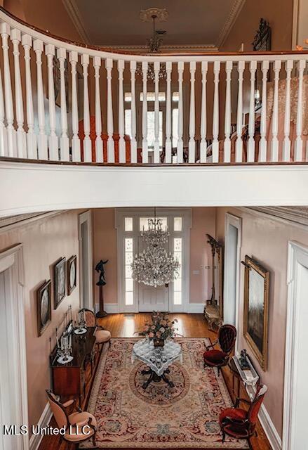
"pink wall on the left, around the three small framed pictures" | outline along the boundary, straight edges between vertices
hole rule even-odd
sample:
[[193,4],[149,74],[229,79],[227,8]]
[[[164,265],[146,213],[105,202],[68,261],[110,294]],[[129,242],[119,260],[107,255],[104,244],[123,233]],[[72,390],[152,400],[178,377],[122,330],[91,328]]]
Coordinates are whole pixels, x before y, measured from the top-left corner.
[[[72,305],[79,309],[79,281],[77,287],[52,309],[52,321],[43,335],[38,337],[36,290],[43,281],[53,280],[53,264],[60,257],[77,255],[79,262],[78,212],[65,212],[48,219],[19,226],[9,233],[0,233],[0,252],[22,243],[25,265],[25,328],[27,344],[27,383],[29,423],[36,425],[46,406],[46,389],[51,387],[49,368],[49,338],[55,345],[55,327],[62,323],[65,311]],[[78,271],[77,271],[78,276]]]

